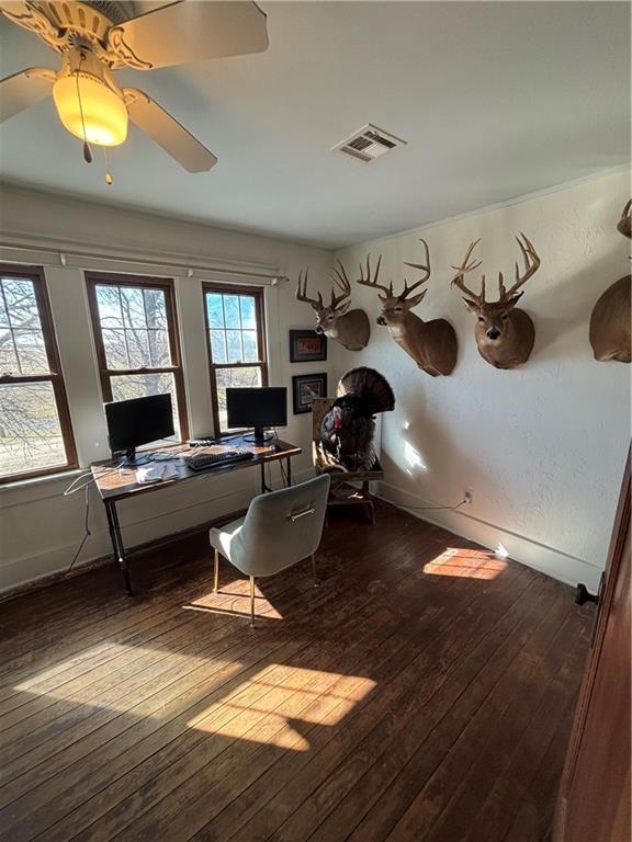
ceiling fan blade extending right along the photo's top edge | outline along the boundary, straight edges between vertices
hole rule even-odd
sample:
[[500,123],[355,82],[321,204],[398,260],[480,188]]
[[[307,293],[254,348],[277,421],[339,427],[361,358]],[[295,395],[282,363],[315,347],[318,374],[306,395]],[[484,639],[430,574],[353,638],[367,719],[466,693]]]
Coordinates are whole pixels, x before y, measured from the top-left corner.
[[170,67],[261,53],[268,48],[268,26],[252,2],[184,0],[113,26],[108,47],[134,67]]

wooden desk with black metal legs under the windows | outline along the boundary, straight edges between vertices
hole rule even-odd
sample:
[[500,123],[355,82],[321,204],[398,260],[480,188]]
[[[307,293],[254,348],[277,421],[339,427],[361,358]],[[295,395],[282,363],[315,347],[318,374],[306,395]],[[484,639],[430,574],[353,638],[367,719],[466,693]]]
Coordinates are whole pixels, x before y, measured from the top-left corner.
[[[227,465],[221,465],[215,468],[208,468],[207,470],[199,471],[191,470],[184,460],[180,458],[180,455],[184,453],[192,453],[191,448],[185,444],[176,444],[168,447],[157,448],[161,453],[166,451],[173,451],[176,456],[174,459],[170,459],[166,463],[158,462],[156,464],[166,464],[170,467],[174,467],[178,470],[178,476],[173,477],[172,479],[150,483],[137,482],[135,468],[116,469],[116,466],[120,464],[120,459],[97,462],[91,465],[94,483],[105,507],[105,514],[108,515],[108,527],[110,530],[110,539],[112,541],[112,553],[115,561],[121,568],[121,572],[123,573],[125,588],[128,594],[134,594],[134,588],[132,585],[125,546],[123,544],[123,536],[121,534],[121,524],[119,523],[119,514],[116,512],[117,502],[127,500],[132,497],[138,497],[140,494],[148,494],[155,491],[160,491],[163,488],[172,488],[173,486],[177,486],[181,482],[188,482],[195,479],[212,479],[213,477],[217,477],[221,474],[229,474],[233,470],[241,470],[242,468],[253,468],[257,466],[259,466],[261,470],[261,493],[264,493],[269,490],[266,485],[266,465],[271,462],[279,462],[281,459],[286,460],[286,482],[289,486],[292,485],[292,456],[297,456],[301,453],[301,447],[297,447],[295,444],[289,444],[287,442],[282,442],[279,440],[268,445],[257,445],[242,439],[230,439],[230,441],[226,442],[226,444],[216,445],[211,450],[230,450],[233,447],[247,447],[255,454],[255,456],[251,459],[245,459],[244,462],[234,462]],[[144,464],[142,457],[147,453],[151,453],[151,451],[138,452],[139,466]]]

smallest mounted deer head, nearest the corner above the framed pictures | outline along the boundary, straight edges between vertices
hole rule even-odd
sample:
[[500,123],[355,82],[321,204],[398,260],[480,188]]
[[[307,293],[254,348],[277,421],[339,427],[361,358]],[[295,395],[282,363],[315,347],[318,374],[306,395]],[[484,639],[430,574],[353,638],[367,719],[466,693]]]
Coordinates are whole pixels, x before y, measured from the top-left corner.
[[303,272],[298,274],[296,299],[309,304],[316,312],[316,333],[324,333],[328,339],[340,342],[348,351],[361,351],[369,342],[371,325],[364,310],[349,310],[351,301],[348,299],[351,296],[351,284],[340,261],[338,261],[338,265],[339,269],[334,268],[332,270],[334,283],[328,306],[325,306],[320,293],[318,293],[317,298],[307,296],[307,275],[309,272],[307,269],[305,270],[305,277],[303,277]]

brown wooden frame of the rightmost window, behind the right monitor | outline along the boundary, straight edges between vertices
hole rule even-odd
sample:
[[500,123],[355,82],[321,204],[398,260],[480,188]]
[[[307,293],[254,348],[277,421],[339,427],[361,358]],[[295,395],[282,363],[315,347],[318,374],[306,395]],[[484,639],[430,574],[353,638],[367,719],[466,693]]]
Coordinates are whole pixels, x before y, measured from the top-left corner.
[[[214,363],[213,349],[211,346],[211,326],[208,323],[208,308],[206,307],[206,294],[217,293],[219,295],[250,295],[255,298],[255,318],[257,321],[257,339],[259,345],[260,360],[256,363]],[[235,435],[244,432],[242,430],[223,431],[219,423],[219,400],[217,397],[217,368],[260,368],[261,388],[268,386],[268,341],[266,337],[266,299],[262,286],[241,286],[237,284],[221,284],[212,281],[202,282],[202,303],[204,305],[204,342],[206,343],[206,356],[208,359],[208,373],[211,380],[211,403],[213,408],[213,434],[215,439],[222,439],[227,435]]]

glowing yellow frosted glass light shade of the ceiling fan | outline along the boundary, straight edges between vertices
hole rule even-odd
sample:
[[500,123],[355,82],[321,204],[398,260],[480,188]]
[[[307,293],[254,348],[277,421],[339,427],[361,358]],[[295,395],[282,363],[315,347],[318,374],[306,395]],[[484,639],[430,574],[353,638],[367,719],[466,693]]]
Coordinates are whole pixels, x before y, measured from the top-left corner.
[[53,100],[64,126],[81,140],[119,146],[127,137],[125,103],[97,77],[87,73],[63,76],[53,86]]

